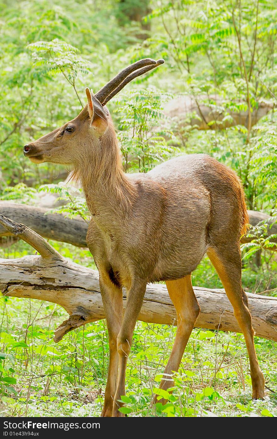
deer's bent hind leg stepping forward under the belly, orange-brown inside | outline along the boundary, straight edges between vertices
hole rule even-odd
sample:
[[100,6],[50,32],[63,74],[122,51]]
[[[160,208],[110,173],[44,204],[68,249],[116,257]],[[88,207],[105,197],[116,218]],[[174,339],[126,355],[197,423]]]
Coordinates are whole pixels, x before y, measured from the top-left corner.
[[[166,281],[166,287],[176,309],[177,331],[173,348],[165,367],[165,375],[160,384],[160,389],[164,390],[172,387],[174,384],[170,375],[179,369],[187,341],[200,313],[200,307],[192,288],[190,274],[176,281]],[[165,403],[165,400],[162,399],[161,402]]]

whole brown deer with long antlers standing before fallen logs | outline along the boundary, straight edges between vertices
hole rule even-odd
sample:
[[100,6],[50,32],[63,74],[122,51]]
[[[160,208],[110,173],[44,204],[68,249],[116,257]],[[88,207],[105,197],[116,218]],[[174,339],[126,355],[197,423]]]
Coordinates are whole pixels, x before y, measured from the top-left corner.
[[[25,145],[34,163],[73,165],[91,212],[87,244],[99,270],[110,360],[102,416],[124,416],[125,372],[133,331],[148,282],[165,281],[177,312],[173,349],[161,382],[178,371],[200,308],[191,273],[207,253],[245,336],[253,399],[263,398],[264,378],[253,342],[247,296],[241,286],[240,237],[248,214],[240,180],[203,154],[184,155],[148,173],[126,174],[108,109],[104,106],[136,76],[162,64],[140,60],[119,73],[64,126]],[[123,313],[122,287],[127,303]]]

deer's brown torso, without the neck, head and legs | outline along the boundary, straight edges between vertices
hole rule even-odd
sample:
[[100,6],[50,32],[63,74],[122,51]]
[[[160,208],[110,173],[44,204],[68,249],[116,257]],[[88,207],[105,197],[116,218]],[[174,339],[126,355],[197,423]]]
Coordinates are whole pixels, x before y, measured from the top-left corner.
[[[223,170],[227,173],[224,185],[220,176]],[[212,171],[215,181],[209,187]],[[181,156],[147,174],[130,174],[126,179],[133,188],[129,203],[124,200],[122,208],[103,187],[105,195],[98,194],[99,210],[93,203],[87,234],[96,263],[105,261],[111,279],[119,285],[130,286],[135,270],[147,282],[179,279],[192,273],[211,245],[212,208],[218,208],[215,217],[222,221],[220,234],[232,227],[226,214],[235,206],[224,196],[224,186],[228,183],[228,192],[234,191],[235,198],[237,178],[209,156]],[[221,205],[212,203],[213,192],[214,196],[223,194]]]

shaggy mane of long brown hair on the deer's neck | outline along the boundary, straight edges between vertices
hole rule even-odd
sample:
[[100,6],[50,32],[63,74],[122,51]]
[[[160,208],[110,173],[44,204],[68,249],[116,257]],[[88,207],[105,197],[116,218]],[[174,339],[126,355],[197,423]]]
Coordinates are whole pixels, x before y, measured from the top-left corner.
[[72,178],[81,181],[87,202],[93,202],[95,197],[99,199],[99,195],[106,194],[117,202],[132,204],[136,190],[124,173],[112,122],[109,121],[107,130],[99,138],[99,144],[91,148],[86,145]]

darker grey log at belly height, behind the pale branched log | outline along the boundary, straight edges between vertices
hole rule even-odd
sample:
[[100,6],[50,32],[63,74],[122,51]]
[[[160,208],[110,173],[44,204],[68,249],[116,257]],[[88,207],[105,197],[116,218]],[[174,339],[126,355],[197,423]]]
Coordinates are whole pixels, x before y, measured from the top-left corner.
[[[70,219],[62,214],[50,213],[49,209],[7,201],[0,201],[0,213],[17,223],[25,224],[44,238],[67,242],[76,247],[86,247],[88,224],[81,217]],[[277,234],[276,218],[254,210],[248,210],[248,215],[252,228],[261,221],[265,221],[269,226],[267,234]],[[250,231],[252,230],[250,229]],[[0,238],[5,236],[11,236],[11,233],[0,225]],[[241,244],[251,242],[252,239],[253,237],[244,236],[241,238]],[[277,243],[277,238],[273,238],[271,241]],[[3,244],[5,245],[5,243]],[[269,250],[277,250],[277,246],[269,248]]]

